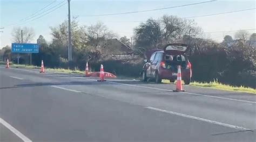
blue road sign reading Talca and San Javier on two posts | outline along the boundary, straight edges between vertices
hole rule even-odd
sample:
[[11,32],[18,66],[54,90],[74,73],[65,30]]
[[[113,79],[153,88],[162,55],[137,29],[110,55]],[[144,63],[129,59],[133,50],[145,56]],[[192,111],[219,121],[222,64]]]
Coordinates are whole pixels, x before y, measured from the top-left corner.
[[[32,53],[39,53],[39,45],[38,44],[11,44],[11,52],[12,53],[30,53],[30,65],[32,63]],[[18,54],[18,58],[19,58]],[[19,63],[19,62],[18,62]]]

